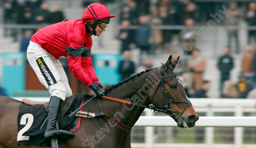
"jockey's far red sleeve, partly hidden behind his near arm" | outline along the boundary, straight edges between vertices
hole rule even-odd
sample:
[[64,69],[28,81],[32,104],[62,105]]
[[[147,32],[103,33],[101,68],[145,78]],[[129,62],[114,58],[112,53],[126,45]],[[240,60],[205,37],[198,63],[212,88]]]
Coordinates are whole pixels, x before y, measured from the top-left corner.
[[[96,76],[96,73],[94,71],[94,67],[92,65],[92,61],[91,61],[91,46],[92,46],[92,39],[91,36],[88,37],[87,39],[87,43],[86,43],[86,48],[87,50],[82,53],[82,67],[84,69],[84,71],[89,75],[89,77],[91,78],[91,80],[93,82],[95,81],[99,81],[98,77]],[[99,82],[96,82],[96,84],[100,84]]]

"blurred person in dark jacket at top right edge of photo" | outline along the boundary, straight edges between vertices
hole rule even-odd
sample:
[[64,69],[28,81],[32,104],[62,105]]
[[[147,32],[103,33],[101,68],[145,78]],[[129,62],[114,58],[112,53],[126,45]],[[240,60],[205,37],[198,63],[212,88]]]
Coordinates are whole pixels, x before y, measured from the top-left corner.
[[[248,26],[255,26],[256,25],[256,3],[250,2],[249,3],[249,11],[246,14],[246,21]],[[254,38],[254,43],[256,43],[256,31],[255,30],[248,30],[248,44],[251,44],[251,39]]]

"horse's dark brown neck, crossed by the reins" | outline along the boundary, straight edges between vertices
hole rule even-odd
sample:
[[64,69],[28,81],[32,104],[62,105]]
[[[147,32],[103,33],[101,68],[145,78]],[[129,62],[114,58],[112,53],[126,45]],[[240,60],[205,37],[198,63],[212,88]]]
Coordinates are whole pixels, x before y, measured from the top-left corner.
[[[149,73],[148,73],[149,74]],[[126,82],[113,89],[107,94],[108,97],[118,98],[122,100],[135,102],[141,105],[149,105],[149,95],[146,94],[142,89],[147,83],[148,74],[143,74],[139,77],[135,77],[132,80]],[[129,100],[128,100],[129,99]],[[111,116],[114,119],[120,119],[120,122],[132,127],[135,122],[139,119],[144,108],[132,105],[124,105],[120,102],[110,102],[104,100],[105,114]]]

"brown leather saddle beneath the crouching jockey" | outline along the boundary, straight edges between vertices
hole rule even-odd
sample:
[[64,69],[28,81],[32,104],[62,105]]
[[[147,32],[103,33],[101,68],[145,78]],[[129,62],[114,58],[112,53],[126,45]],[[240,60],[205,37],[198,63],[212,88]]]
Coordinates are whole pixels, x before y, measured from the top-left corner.
[[[69,110],[70,106],[75,102],[75,100],[76,100],[76,97],[74,95],[72,95],[72,96],[66,98],[65,101],[62,101],[61,107],[60,107],[60,114],[59,114],[61,117],[66,114],[66,112]],[[28,99],[22,99],[22,102],[27,105],[37,105],[37,106],[44,105],[45,110],[48,112],[49,101],[36,102],[36,101],[28,100]]]

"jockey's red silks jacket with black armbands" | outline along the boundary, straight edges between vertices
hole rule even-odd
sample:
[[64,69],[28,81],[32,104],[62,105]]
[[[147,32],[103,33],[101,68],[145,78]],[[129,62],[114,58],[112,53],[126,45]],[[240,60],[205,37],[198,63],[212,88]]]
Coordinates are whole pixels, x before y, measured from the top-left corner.
[[[38,43],[56,59],[68,57],[69,70],[88,84],[98,81],[91,61],[91,29],[83,19],[59,22],[38,30],[31,41]],[[87,50],[81,53],[80,48]],[[97,84],[100,84],[97,82]]]

